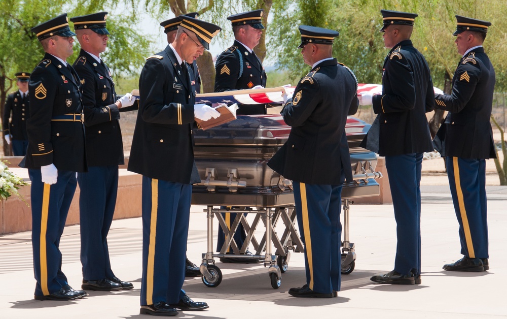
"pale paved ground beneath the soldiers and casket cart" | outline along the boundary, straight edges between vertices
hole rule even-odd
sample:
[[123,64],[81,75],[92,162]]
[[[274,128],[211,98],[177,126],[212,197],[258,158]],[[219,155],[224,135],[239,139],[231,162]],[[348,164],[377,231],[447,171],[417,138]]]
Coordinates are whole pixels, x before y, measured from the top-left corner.
[[[491,190],[491,194],[489,193]],[[257,265],[218,265],[222,283],[207,288],[200,278],[188,279],[184,289],[194,300],[206,301],[201,312],[180,312],[185,318],[497,318],[507,316],[507,188],[488,190],[490,271],[445,272],[442,265],[459,259],[458,224],[448,187],[424,186],[422,196],[422,284],[380,285],[369,278],[392,269],[395,222],[392,205],[353,205],[350,240],[355,243],[355,270],[342,276],[338,298],[302,299],[287,294],[304,283],[302,253],[293,253],[281,287],[271,288],[267,268]],[[188,256],[200,263],[206,249],[206,215],[192,207]],[[215,220],[216,227],[216,220]],[[279,226],[280,233],[283,228]],[[263,229],[259,236],[262,236]],[[91,292],[69,302],[35,301],[30,232],[0,237],[0,318],[135,318],[139,315],[141,275],[140,218],[113,221],[111,261],[118,277],[132,281],[130,292]],[[80,288],[79,226],[65,229],[61,240],[62,269],[70,285]]]

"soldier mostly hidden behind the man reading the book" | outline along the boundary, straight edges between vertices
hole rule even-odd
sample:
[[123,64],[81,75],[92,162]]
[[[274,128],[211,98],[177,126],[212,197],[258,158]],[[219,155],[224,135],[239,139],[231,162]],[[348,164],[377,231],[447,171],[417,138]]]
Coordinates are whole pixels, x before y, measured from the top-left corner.
[[[191,12],[184,14],[185,16],[191,18],[197,18],[197,12]],[[167,43],[173,43],[174,39],[176,39],[176,31],[178,30],[179,24],[182,23],[182,16],[175,17],[169,20],[165,20],[160,22],[160,25],[164,27],[164,33],[167,35]],[[190,62],[190,61],[189,61]],[[191,73],[192,77],[192,87],[193,90],[197,93],[201,91],[201,76],[199,75],[199,68],[197,68],[197,62],[194,60],[191,63],[187,63],[187,68],[189,69],[189,73]],[[200,276],[201,271],[196,264],[192,263],[188,258],[185,260],[185,276],[186,277],[195,277]]]

